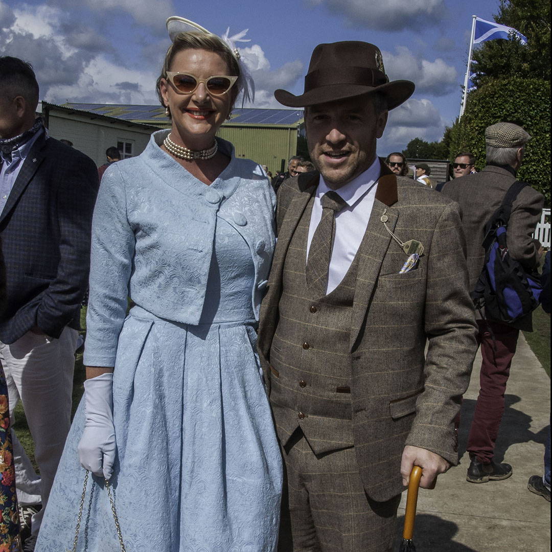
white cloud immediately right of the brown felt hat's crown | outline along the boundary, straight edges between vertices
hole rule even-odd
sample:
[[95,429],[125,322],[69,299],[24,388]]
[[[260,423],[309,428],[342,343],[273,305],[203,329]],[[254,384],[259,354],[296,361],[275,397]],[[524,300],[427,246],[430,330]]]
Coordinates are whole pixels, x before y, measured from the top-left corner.
[[395,54],[382,52],[385,71],[391,80],[407,79],[416,84],[416,92],[442,96],[459,86],[458,71],[438,57],[428,61],[416,57],[406,46],[396,46]]

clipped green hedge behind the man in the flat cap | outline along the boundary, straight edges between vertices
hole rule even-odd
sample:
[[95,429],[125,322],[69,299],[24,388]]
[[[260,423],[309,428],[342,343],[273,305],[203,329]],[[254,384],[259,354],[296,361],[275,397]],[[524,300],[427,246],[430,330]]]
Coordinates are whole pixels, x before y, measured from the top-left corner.
[[460,122],[454,124],[450,160],[472,151],[476,167],[485,166],[485,128],[498,121],[523,126],[533,137],[526,147],[518,178],[528,182],[550,206],[550,82],[541,79],[489,79],[468,94]]

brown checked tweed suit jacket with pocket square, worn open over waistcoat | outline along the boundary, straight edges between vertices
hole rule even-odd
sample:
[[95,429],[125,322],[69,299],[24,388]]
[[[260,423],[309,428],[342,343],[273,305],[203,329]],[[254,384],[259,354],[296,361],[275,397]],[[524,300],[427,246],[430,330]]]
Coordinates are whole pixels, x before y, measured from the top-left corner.
[[[411,179],[395,177],[383,164],[380,174],[357,252],[347,362],[352,365],[353,439],[360,475],[368,495],[383,501],[403,490],[405,444],[457,464],[453,420],[477,346],[458,205]],[[302,173],[282,184],[278,196],[278,242],[258,339],[268,392],[286,251],[318,183],[319,173]],[[399,274],[407,255],[384,221],[403,242],[423,244],[416,269]]]

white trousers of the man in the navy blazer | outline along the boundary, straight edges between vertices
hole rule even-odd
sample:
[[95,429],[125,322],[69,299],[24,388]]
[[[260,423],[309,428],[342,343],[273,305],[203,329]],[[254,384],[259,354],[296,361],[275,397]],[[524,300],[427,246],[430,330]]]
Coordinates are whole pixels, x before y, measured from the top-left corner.
[[59,339],[29,331],[10,345],[0,342],[0,363],[8,384],[10,421],[13,426],[13,412],[21,400],[40,470],[38,476],[12,430],[18,501],[22,505],[42,503],[42,509],[33,515],[31,521],[33,534],[38,534],[40,529],[71,427],[77,337],[76,330],[66,327]]

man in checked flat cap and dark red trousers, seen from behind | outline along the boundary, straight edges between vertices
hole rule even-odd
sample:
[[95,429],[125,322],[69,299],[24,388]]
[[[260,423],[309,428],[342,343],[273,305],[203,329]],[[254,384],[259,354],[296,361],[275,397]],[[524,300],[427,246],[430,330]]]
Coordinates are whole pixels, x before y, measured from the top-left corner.
[[[485,263],[485,226],[516,182],[529,134],[512,123],[485,129],[486,167],[479,173],[445,183],[442,193],[460,204],[466,236],[470,289],[474,290]],[[507,222],[507,251],[523,269],[533,271],[538,256],[532,233],[540,219],[544,198],[528,185],[513,200]],[[500,290],[497,290],[500,291]],[[488,315],[487,315],[488,317]],[[481,319],[480,313],[477,318]],[[532,331],[532,315],[509,323],[477,320],[481,345],[480,391],[471,423],[467,450],[471,463],[466,479],[472,483],[507,479],[512,466],[493,461],[498,428],[504,412],[504,394],[519,330]]]

